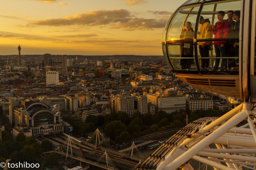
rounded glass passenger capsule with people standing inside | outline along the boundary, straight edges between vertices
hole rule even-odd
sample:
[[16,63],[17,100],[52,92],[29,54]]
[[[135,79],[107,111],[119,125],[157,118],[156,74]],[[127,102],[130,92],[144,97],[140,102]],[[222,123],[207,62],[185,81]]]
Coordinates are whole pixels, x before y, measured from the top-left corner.
[[175,75],[198,89],[256,102],[255,5],[190,0],[168,20],[162,48]]

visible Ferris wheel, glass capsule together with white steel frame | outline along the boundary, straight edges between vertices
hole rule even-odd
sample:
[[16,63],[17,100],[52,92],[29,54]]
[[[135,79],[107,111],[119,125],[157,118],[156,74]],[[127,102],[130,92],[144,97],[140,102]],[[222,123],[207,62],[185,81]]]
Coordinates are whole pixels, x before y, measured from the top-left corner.
[[255,13],[256,0],[189,0],[173,13],[162,41],[168,66],[189,85],[228,96],[233,109],[186,125],[137,170],[255,169]]

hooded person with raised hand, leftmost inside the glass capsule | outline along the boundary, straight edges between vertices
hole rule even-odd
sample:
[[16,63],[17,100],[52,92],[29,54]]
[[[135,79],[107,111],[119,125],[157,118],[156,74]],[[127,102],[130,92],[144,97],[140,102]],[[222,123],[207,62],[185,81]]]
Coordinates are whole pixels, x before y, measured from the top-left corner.
[[[182,31],[180,33],[180,40],[194,39],[195,31],[192,28],[191,22],[187,21],[186,29],[182,25]],[[191,64],[194,64],[194,44],[193,42],[181,43],[180,46],[181,57],[191,57],[190,59],[180,59],[181,68],[179,70],[190,70]]]

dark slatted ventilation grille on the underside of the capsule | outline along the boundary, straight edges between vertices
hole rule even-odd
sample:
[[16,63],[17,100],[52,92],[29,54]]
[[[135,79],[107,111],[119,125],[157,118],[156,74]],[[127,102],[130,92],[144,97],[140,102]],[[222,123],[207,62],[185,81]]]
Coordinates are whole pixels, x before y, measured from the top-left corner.
[[225,86],[236,87],[236,80],[223,80],[223,79],[193,79],[186,78],[190,84],[204,85],[204,86]]

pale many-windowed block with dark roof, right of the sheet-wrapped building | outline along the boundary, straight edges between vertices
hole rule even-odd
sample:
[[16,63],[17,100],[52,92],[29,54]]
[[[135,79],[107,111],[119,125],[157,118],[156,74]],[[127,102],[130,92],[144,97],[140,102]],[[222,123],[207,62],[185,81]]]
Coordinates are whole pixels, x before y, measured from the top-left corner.
[[194,112],[198,109],[209,109],[213,108],[213,100],[210,97],[201,95],[200,97],[193,97],[186,95],[186,108],[188,108],[191,112]]

